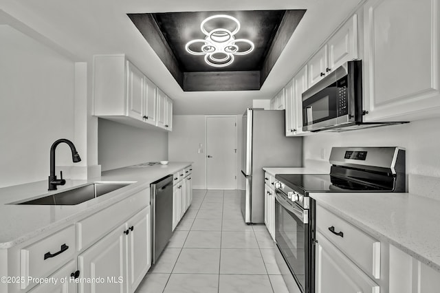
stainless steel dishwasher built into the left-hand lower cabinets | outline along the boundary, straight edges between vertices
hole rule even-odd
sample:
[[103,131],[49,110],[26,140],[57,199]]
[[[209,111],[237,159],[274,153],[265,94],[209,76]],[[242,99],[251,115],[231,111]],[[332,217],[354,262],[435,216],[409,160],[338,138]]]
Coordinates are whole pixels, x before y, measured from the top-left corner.
[[155,263],[173,235],[173,175],[150,185],[151,261]]

